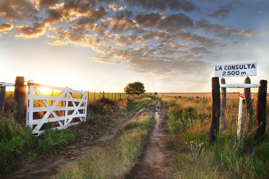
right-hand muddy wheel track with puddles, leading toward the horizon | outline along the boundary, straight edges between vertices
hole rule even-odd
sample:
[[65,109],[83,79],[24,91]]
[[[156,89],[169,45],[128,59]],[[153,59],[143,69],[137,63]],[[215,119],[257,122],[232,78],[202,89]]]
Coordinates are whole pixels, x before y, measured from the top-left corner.
[[162,179],[166,178],[166,162],[163,153],[163,116],[159,110],[161,102],[155,107],[155,125],[152,129],[148,142],[143,149],[143,153],[135,164],[133,169],[126,175],[128,179],[134,178],[149,178],[149,179]]

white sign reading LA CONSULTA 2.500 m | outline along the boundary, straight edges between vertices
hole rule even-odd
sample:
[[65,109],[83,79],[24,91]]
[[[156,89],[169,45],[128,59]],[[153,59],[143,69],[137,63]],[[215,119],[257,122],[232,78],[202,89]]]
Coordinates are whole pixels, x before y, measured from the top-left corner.
[[257,62],[215,66],[215,77],[236,76],[257,76]]

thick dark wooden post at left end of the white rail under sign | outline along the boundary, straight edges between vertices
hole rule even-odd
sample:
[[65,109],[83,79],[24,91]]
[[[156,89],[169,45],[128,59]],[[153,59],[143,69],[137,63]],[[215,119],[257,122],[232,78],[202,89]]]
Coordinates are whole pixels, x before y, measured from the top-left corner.
[[212,113],[209,126],[208,141],[210,144],[216,141],[219,131],[220,116],[220,85],[218,77],[212,78]]

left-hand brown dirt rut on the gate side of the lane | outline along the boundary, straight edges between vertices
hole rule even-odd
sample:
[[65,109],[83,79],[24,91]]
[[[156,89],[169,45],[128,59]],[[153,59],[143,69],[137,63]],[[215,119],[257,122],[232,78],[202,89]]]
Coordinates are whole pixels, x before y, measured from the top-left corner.
[[[153,102],[153,101],[152,101]],[[136,118],[139,116],[145,108],[147,108],[150,104],[150,102],[145,107],[141,108],[138,112],[135,113],[134,116],[129,116],[126,119],[124,119],[122,122],[120,122],[119,125],[115,125],[110,130],[104,132],[99,138],[97,138],[94,142],[91,142],[91,144],[83,145],[83,146],[77,146],[76,150],[78,151],[78,154],[76,157],[68,156],[68,155],[53,155],[49,156],[48,158],[45,158],[42,161],[34,161],[28,163],[26,166],[22,167],[21,169],[17,170],[13,175],[10,176],[0,176],[1,178],[23,178],[23,179],[47,179],[51,178],[54,175],[57,175],[58,171],[65,166],[66,164],[73,162],[73,158],[77,158],[81,154],[87,152],[88,150],[91,150],[91,148],[94,148],[96,146],[102,145],[103,142],[112,139],[118,131],[123,129],[127,122],[130,120]],[[72,146],[71,146],[72,147]],[[75,146],[73,146],[75,147]],[[72,150],[71,150],[72,151]],[[69,153],[71,153],[71,151]]]

